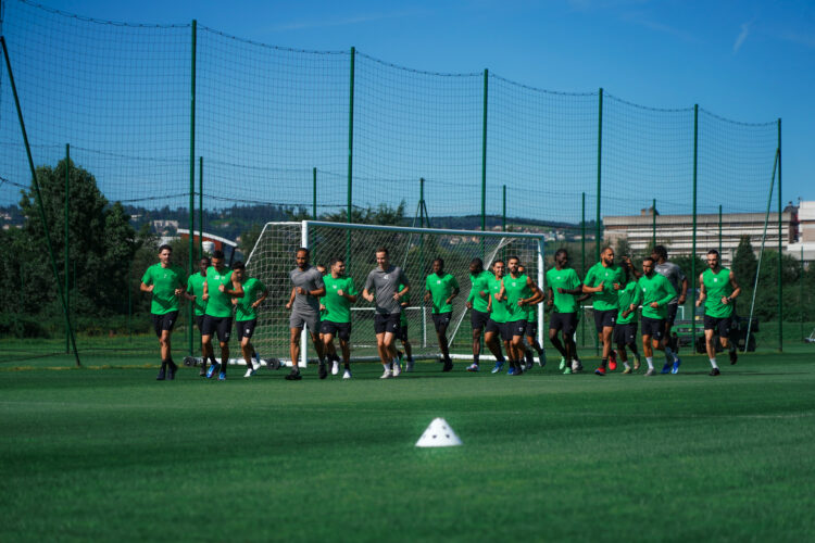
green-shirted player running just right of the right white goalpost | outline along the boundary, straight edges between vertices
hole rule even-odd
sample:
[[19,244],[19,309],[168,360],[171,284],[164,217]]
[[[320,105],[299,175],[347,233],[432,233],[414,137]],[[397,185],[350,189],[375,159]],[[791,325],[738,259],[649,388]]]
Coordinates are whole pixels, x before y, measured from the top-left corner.
[[[554,267],[547,272],[547,305],[553,308],[549,317],[549,341],[561,353],[560,370],[565,375],[578,370],[577,344],[577,296],[582,293],[582,283],[577,272],[568,266],[568,252],[559,249],[554,253]],[[557,337],[561,333],[563,342]]]

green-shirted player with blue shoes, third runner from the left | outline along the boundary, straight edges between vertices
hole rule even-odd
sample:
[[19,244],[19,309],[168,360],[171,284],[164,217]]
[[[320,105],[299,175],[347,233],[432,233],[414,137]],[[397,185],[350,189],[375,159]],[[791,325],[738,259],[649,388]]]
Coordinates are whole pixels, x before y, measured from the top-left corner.
[[[231,287],[231,288],[230,288]],[[212,253],[212,266],[206,269],[204,281],[204,293],[202,299],[206,302],[204,318],[201,325],[201,350],[212,352],[212,337],[217,333],[221,344],[221,363],[213,358],[206,378],[211,379],[218,371],[218,380],[226,380],[226,367],[229,365],[229,337],[233,329],[233,298],[241,298],[243,287],[233,274],[233,270],[224,265],[224,252],[217,250]]]

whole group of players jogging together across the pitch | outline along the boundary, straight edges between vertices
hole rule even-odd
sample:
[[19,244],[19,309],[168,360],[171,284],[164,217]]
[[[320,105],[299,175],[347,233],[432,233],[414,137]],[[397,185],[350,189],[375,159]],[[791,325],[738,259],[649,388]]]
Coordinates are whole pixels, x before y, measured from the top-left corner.
[[[360,295],[375,304],[374,332],[384,367],[381,378],[398,377],[402,372],[403,357],[404,370],[413,370],[405,318],[411,285],[404,270],[390,263],[387,248],[376,249],[375,255],[376,267],[367,275],[360,293],[353,278],[346,275],[342,258],[331,260],[328,268],[312,266],[309,250],[297,250],[296,267],[289,273],[291,293],[286,304],[291,312],[289,354],[292,361],[287,380],[302,379],[297,362],[300,359],[300,336],[303,330],[309,331],[317,353],[319,379],[328,376],[329,365],[333,375],[339,374],[340,356],[334,345],[335,337],[342,355],[342,378],[351,378],[351,305]],[[716,250],[707,252],[707,266],[699,276],[700,292],[695,304],[704,304],[705,344],[712,366],[710,375],[717,376],[715,336],[718,336],[722,348],[728,350],[730,363],[738,361],[736,345],[728,337],[734,300],[741,289],[732,272],[720,266]],[[623,256],[617,264],[614,250],[606,247],[600,253],[600,262],[588,270],[582,281],[568,267],[568,252],[560,249],[554,255],[554,267],[546,274],[546,293],[526,275],[517,256],[510,256],[506,262],[496,260],[489,270],[484,269],[480,258],[474,258],[469,264],[469,279],[466,307],[471,311],[473,363],[466,368],[468,371],[480,369],[481,337],[496,359],[493,374],[502,371],[509,362],[509,375],[523,375],[534,367],[536,352],[538,363],[543,367],[546,354],[537,341],[539,303],[544,303],[551,310],[549,340],[561,354],[560,371],[581,371],[575,333],[581,313],[580,303],[589,299],[598,339],[602,344],[602,357],[595,375],[614,371],[617,357],[624,365],[623,374],[631,374],[640,368],[637,341],[639,306],[642,307],[642,355],[648,364],[644,375],[652,376],[656,371],[654,351],[662,351],[665,356],[663,374],[679,371],[681,359],[670,346],[670,330],[678,306],[686,301],[688,279],[679,266],[667,262],[667,251],[663,245],[653,249],[652,254],[642,261],[640,269],[634,266],[628,256]],[[226,379],[233,320],[247,365],[244,377],[252,377],[261,367],[251,338],[258,324],[256,310],[268,296],[268,289],[259,279],[247,275],[242,262],[229,268],[225,265],[223,252],[215,251],[212,258],[201,258],[199,272],[187,278],[183,268],[172,264],[172,248],[162,245],[159,249],[159,263],[150,266],[141,279],[141,290],[152,294],[151,316],[162,361],[158,380],[174,379],[178,369],[172,357],[171,334],[183,296],[195,304],[196,324],[201,331],[201,376],[213,378],[217,374],[220,380]],[[447,331],[453,312],[452,302],[459,294],[455,276],[444,270],[442,258],[436,258],[430,275],[425,279],[424,301],[432,307],[442,371],[453,369]],[[221,348],[221,362],[214,356],[212,341],[215,336]],[[402,342],[404,353],[397,349],[397,340]],[[634,357],[632,365],[629,364],[628,352]],[[269,365],[279,368],[277,359]]]

